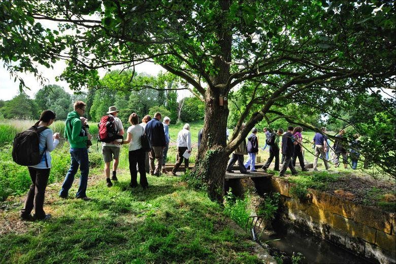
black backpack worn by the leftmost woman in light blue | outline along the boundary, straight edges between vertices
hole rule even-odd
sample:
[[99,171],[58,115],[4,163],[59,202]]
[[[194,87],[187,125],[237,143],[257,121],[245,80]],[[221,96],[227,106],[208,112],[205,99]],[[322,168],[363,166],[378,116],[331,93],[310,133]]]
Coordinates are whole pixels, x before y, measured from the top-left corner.
[[[35,125],[18,133],[13,141],[12,159],[22,166],[34,166],[40,163],[43,153],[40,153],[40,133],[48,127],[37,128]],[[45,156],[47,158],[47,156]],[[47,159],[45,160],[48,168]]]

